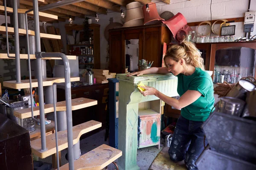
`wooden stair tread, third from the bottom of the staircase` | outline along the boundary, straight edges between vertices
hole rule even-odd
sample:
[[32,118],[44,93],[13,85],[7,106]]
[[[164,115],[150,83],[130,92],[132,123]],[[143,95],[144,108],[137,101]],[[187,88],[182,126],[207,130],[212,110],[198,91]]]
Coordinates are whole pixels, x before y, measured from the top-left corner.
[[[93,99],[86,99],[86,98],[77,98],[72,99],[72,111],[76,111],[81,108],[87,108],[93,105],[97,105],[97,100]],[[44,113],[51,113],[54,111],[53,104],[47,104],[44,105]],[[56,111],[66,111],[66,101],[57,102],[56,103]],[[37,116],[40,114],[39,106],[33,108],[34,116]],[[20,109],[13,112],[13,115],[20,118],[20,119],[26,119],[31,117],[31,108],[26,109]]]

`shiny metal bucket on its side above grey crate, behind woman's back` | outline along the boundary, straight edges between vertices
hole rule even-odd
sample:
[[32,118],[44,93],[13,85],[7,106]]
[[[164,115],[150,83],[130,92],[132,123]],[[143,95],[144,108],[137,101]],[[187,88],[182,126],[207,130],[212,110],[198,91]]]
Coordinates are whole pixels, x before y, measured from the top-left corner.
[[245,102],[233,97],[221,97],[218,104],[218,112],[240,116],[244,109]]

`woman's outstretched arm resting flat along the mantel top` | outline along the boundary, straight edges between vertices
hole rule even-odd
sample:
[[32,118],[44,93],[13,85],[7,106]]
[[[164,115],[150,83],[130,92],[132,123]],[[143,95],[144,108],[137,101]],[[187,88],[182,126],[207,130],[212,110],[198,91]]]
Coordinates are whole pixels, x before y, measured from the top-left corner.
[[143,74],[169,74],[168,68],[166,67],[151,67],[146,70],[137,71],[134,73],[127,74],[127,76],[141,76]]

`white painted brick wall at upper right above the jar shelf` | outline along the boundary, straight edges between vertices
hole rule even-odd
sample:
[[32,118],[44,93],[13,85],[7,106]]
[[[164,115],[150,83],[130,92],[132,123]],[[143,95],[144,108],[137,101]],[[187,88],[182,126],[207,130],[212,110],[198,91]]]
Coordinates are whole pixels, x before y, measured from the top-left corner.
[[[158,1],[152,0],[154,3]],[[187,22],[191,23],[211,19],[210,2],[211,0],[171,0],[170,4],[160,2],[156,5],[159,14],[164,11],[171,11],[173,14],[180,12],[186,17]],[[212,0],[212,20],[244,17],[248,3],[249,0]],[[256,0],[251,0],[250,11],[256,11]],[[230,23],[230,25],[236,25],[236,37],[244,36],[243,23]],[[192,27],[193,30],[196,28]],[[202,28],[199,29],[202,30]],[[251,35],[254,34],[256,34],[256,29],[251,33]]]

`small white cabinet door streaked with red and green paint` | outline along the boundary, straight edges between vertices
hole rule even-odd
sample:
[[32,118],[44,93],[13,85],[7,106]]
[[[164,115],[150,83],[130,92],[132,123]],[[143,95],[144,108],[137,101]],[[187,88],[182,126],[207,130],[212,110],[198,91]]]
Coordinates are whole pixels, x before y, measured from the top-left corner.
[[139,116],[138,148],[154,146],[160,143],[161,114],[157,116]]

